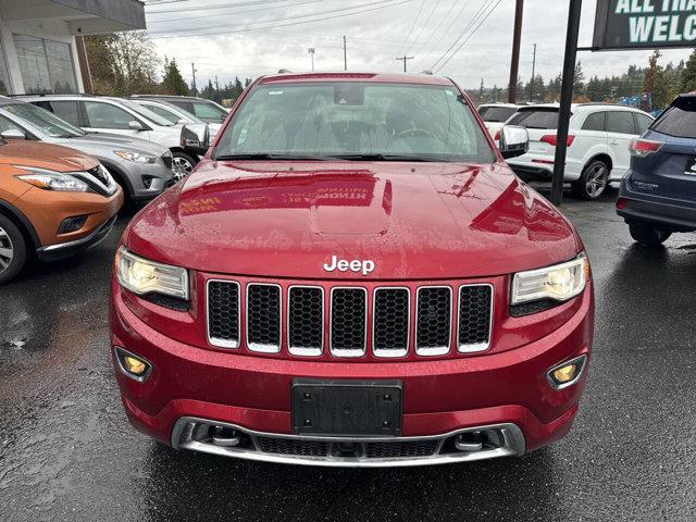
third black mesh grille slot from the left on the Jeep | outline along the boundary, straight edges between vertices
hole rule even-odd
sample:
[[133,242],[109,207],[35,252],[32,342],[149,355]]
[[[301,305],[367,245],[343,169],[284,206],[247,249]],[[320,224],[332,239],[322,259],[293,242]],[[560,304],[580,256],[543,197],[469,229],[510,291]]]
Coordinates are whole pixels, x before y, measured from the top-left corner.
[[324,299],[321,288],[295,286],[289,290],[290,349],[322,349]]

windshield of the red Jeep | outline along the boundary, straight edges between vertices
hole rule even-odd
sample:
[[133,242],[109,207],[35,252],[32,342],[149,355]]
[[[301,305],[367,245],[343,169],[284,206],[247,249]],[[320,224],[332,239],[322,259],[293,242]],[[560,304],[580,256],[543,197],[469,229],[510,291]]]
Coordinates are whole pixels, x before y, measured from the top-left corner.
[[254,154],[495,161],[471,109],[453,87],[349,82],[254,88],[213,157]]

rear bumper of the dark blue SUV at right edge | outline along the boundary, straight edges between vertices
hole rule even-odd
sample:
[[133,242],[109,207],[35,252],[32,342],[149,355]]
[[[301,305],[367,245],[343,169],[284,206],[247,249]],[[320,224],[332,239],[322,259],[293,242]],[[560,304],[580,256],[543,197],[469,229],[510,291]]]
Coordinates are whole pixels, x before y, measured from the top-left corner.
[[659,194],[638,191],[632,187],[631,173],[621,182],[619,198],[625,207],[617,214],[626,223],[642,222],[662,225],[675,232],[696,231],[696,201],[660,197]]

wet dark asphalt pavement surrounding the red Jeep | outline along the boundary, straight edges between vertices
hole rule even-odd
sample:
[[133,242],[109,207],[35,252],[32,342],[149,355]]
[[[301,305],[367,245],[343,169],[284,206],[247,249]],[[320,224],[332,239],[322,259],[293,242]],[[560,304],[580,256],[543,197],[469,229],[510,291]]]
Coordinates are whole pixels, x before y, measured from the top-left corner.
[[[616,192],[611,196],[616,196]],[[696,235],[637,247],[611,197],[563,211],[597,327],[571,434],[518,459],[334,470],[177,452],[127,423],[109,359],[120,232],[0,288],[0,520],[655,521],[696,517]]]

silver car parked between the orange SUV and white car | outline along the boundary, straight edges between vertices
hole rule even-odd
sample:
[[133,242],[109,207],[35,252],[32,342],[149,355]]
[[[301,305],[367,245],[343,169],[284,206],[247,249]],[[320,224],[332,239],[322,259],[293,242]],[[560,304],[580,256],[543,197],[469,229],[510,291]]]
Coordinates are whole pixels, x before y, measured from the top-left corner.
[[132,201],[152,199],[174,181],[172,152],[166,147],[127,136],[85,133],[32,103],[0,99],[0,134],[5,139],[46,141],[94,156]]

